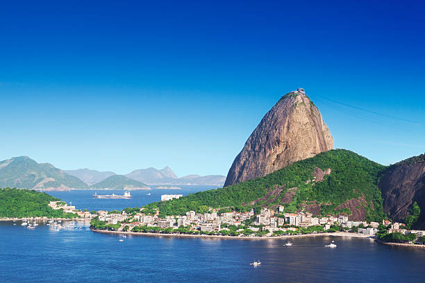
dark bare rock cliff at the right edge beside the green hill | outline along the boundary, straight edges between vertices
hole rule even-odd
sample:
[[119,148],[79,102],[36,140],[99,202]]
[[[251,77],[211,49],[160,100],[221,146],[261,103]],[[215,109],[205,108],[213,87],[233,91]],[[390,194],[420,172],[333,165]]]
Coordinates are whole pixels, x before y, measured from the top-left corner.
[[383,211],[390,214],[390,218],[403,222],[416,201],[422,209],[416,228],[425,228],[425,155],[390,166],[381,178],[379,188],[383,196]]

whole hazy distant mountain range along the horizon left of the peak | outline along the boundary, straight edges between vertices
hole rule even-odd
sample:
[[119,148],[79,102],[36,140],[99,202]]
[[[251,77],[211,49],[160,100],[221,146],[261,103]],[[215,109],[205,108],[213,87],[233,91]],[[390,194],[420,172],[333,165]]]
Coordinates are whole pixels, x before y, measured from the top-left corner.
[[178,178],[168,166],[164,169],[139,169],[127,175],[90,169],[61,170],[49,163],[38,163],[28,156],[12,157],[0,162],[0,188],[69,190],[69,189],[131,189],[158,185],[217,185],[222,175],[187,175]]

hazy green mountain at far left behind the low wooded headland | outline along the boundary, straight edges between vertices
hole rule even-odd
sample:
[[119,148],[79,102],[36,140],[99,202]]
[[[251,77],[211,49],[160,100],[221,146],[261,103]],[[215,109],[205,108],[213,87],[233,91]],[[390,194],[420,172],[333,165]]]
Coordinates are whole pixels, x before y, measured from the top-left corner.
[[19,189],[85,189],[80,179],[49,163],[37,163],[29,157],[13,157],[0,162],[0,187]]

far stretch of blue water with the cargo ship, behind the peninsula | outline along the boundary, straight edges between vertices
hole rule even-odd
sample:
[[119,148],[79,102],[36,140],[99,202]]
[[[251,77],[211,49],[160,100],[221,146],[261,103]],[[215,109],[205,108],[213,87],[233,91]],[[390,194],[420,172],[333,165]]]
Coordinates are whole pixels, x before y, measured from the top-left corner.
[[[158,186],[151,186],[158,187]],[[188,194],[197,192],[197,191],[206,191],[208,189],[217,189],[217,186],[181,186],[181,189],[151,189],[150,191],[144,190],[135,190],[130,191],[133,198],[131,199],[108,199],[108,198],[93,198],[93,194],[124,194],[122,189],[114,190],[72,190],[72,191],[49,191],[47,194],[60,198],[68,203],[72,203],[78,209],[89,209],[91,210],[115,210],[115,209],[124,209],[126,207],[141,207],[142,205],[147,205],[148,203],[153,203],[155,201],[161,200],[161,195],[163,194],[183,194],[187,196]],[[147,194],[151,194],[148,196]]]

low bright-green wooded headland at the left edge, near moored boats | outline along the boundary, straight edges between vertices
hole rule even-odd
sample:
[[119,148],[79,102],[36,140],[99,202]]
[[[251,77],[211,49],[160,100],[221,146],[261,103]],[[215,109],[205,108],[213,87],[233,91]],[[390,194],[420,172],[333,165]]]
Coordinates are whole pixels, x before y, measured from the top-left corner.
[[62,209],[53,210],[49,202],[57,201],[39,191],[28,189],[0,189],[0,218],[3,217],[48,217],[48,218],[73,218],[76,214],[64,213]]

